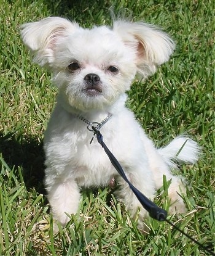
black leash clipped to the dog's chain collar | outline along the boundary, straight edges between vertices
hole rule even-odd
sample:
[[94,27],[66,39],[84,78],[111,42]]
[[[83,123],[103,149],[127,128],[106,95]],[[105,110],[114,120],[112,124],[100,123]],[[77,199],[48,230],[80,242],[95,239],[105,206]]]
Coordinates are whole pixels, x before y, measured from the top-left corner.
[[[144,196],[143,193],[141,193],[133,184],[130,183],[127,176],[125,175],[125,172],[123,171],[123,168],[121,167],[118,160],[114,157],[111,151],[109,151],[108,147],[103,141],[103,136],[100,133],[100,131],[93,125],[91,125],[92,131],[94,135],[96,135],[97,141],[100,143],[100,145],[103,147],[104,151],[108,155],[112,165],[114,166],[115,170],[119,173],[120,176],[122,176],[123,180],[125,180],[130,189],[134,192],[135,196],[138,198],[139,202],[141,202],[141,205],[143,205],[144,209],[149,212],[149,215],[158,221],[166,221],[168,224],[173,226],[173,228],[177,229],[181,234],[184,234],[187,238],[189,238],[191,241],[195,242],[201,249],[208,252],[210,255],[215,256],[215,253],[212,249],[208,249],[207,247],[203,246],[200,242],[195,240],[192,236],[189,236],[189,234],[186,234],[184,231],[178,228],[178,226],[174,225],[170,220],[167,220],[167,212],[166,210],[163,210],[162,208],[158,207],[154,202],[149,200],[146,196]],[[89,129],[88,129],[89,130]],[[90,130],[91,131],[91,130]]]

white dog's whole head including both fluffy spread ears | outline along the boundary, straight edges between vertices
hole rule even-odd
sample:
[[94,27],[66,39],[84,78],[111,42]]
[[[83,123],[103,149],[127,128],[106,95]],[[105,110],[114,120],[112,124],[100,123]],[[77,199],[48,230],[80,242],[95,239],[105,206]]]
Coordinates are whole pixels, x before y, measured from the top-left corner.
[[113,28],[84,29],[49,17],[22,26],[22,39],[34,62],[53,72],[66,104],[82,111],[104,109],[166,62],[174,43],[166,33],[142,22],[115,21]]

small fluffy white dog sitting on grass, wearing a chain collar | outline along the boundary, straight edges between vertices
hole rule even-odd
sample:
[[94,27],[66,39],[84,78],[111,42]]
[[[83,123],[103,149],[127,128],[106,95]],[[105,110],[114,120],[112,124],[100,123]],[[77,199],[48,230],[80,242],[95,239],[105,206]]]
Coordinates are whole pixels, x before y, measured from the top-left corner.
[[53,217],[66,225],[66,213],[77,212],[80,188],[107,186],[112,178],[120,184],[117,196],[131,216],[140,208],[140,222],[146,217],[146,210],[103,148],[96,139],[92,141],[93,133],[87,130],[90,122],[96,122],[104,142],[136,188],[153,199],[166,175],[171,180],[170,212],[184,212],[178,194],[184,191],[183,182],[171,174],[171,169],[176,168],[176,162],[194,163],[197,143],[179,136],[156,149],[125,107],[125,92],[135,75],[146,78],[166,62],[174,50],[173,40],[143,22],[117,20],[112,28],[84,29],[60,17],[26,23],[22,39],[34,62],[53,72],[59,89],[44,138],[45,188]]

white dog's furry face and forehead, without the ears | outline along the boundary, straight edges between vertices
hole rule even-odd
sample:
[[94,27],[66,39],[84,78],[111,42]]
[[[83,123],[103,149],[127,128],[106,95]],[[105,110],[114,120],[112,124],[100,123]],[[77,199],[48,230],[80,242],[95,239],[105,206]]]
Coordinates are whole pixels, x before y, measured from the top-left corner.
[[108,28],[77,29],[58,39],[55,49],[55,83],[77,109],[103,109],[130,88],[135,53]]

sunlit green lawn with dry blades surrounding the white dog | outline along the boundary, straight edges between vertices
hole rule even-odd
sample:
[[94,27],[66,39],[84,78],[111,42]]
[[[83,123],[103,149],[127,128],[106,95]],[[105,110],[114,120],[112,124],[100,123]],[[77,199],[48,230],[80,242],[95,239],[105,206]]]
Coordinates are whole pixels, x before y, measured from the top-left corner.
[[[215,243],[214,1],[0,1],[0,255],[207,255],[165,222],[136,228],[111,189],[83,191],[69,225],[53,234],[42,185],[42,140],[56,89],[42,68],[31,64],[18,27],[49,15],[84,27],[111,23],[109,7],[168,31],[177,47],[170,62],[147,81],[135,81],[128,107],[163,146],[187,133],[203,148],[197,164],[182,166],[189,180],[187,214],[170,217],[210,249]],[[166,187],[155,202],[168,208]]]

